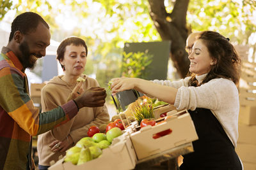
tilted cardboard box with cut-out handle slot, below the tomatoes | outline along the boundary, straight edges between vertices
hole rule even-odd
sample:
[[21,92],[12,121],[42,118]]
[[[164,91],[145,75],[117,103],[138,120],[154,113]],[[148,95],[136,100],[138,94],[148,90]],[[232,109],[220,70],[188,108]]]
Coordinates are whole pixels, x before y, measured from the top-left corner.
[[[175,115],[162,124],[143,127],[140,131],[131,134],[132,144],[138,160],[198,139],[188,111],[179,111]],[[153,138],[154,134],[167,129],[172,129],[172,132],[157,139]]]

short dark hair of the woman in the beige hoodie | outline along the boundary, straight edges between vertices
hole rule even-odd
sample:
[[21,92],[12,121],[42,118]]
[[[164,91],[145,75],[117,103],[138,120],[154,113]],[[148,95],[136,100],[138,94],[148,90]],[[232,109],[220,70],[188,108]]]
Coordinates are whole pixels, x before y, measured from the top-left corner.
[[[59,60],[59,62],[64,59],[64,53],[66,51],[66,46],[68,46],[68,45],[75,45],[75,46],[82,45],[85,48],[86,55],[88,55],[88,49],[87,49],[87,46],[86,46],[86,43],[84,42],[84,40],[81,38],[78,38],[76,36],[71,36],[71,37],[63,39],[63,41],[61,41],[60,45],[58,46],[56,59]],[[60,63],[60,65],[61,65],[61,63]],[[61,67],[62,67],[63,71],[65,71],[65,67],[62,65],[61,65]]]

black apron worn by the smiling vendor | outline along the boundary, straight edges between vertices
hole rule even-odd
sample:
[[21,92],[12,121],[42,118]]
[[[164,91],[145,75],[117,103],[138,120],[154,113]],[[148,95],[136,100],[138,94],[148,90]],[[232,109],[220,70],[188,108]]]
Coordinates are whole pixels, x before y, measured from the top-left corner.
[[196,108],[189,114],[199,139],[193,141],[195,152],[183,156],[180,169],[242,169],[234,145],[212,112]]

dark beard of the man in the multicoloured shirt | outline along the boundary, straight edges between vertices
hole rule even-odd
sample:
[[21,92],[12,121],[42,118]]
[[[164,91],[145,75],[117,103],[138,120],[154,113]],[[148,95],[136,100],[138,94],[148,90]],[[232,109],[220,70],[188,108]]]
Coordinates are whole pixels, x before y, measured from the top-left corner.
[[35,53],[29,52],[28,43],[26,41],[20,43],[19,50],[21,52],[20,62],[22,63],[22,66],[26,69],[33,69],[36,64],[37,58],[40,58],[42,56],[38,56]]

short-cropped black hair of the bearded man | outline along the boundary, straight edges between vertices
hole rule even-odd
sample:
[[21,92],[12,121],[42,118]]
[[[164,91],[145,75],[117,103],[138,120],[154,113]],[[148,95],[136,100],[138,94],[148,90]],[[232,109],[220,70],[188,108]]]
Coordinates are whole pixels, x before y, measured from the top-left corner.
[[50,29],[47,22],[45,22],[45,20],[37,13],[25,12],[18,15],[12,22],[12,31],[9,36],[9,42],[12,41],[16,31],[20,31],[22,34],[28,34],[30,31],[35,31],[40,22]]

